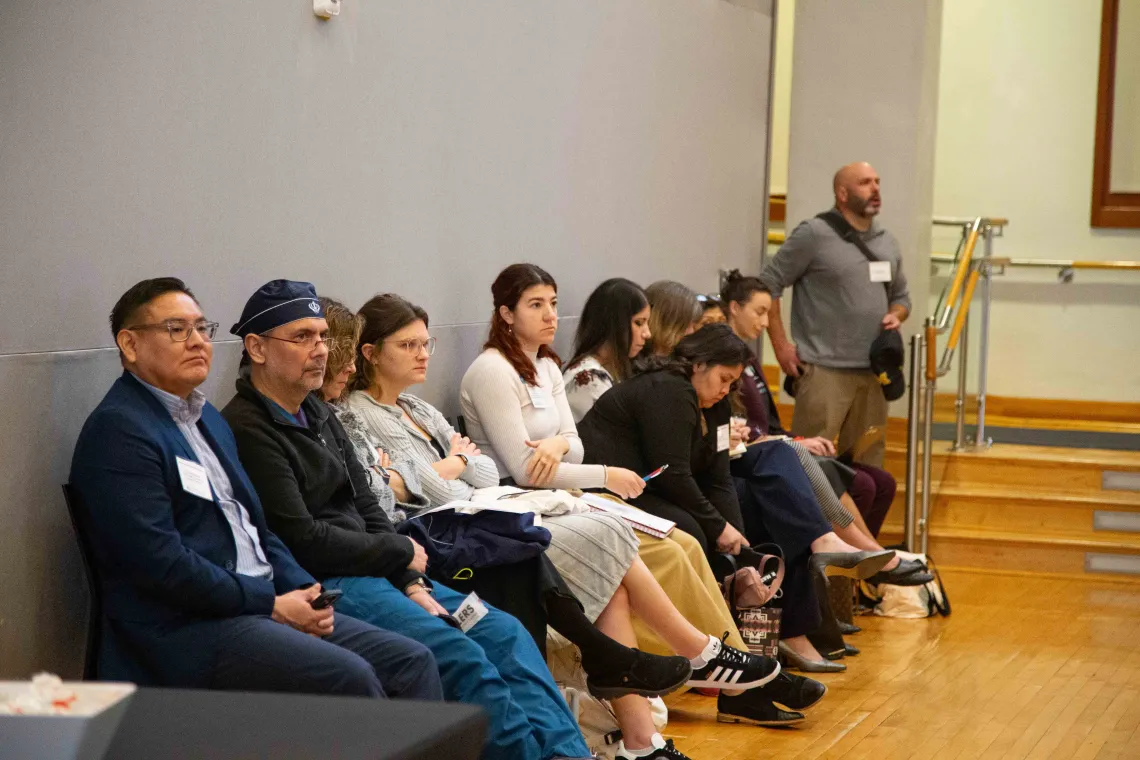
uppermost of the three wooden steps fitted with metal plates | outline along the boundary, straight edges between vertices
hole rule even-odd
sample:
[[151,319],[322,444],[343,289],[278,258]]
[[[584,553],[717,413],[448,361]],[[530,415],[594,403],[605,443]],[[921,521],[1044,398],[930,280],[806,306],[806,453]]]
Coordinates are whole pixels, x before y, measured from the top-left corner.
[[[1066,492],[1101,492],[1105,472],[1140,473],[1140,451],[1062,449],[1044,446],[995,443],[987,451],[951,451],[948,441],[935,441],[931,482],[944,485],[988,483]],[[903,482],[905,448],[887,447],[888,471]]]

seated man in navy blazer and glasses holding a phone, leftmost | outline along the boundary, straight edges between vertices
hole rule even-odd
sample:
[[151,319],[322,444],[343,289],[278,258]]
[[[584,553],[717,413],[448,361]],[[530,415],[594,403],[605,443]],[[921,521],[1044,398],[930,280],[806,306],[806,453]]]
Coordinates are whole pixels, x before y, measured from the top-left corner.
[[312,608],[320,586],[267,528],[233,433],[197,390],[218,325],[193,293],[144,280],[111,324],[125,371],[71,472],[103,587],[99,677],[441,698],[425,646]]

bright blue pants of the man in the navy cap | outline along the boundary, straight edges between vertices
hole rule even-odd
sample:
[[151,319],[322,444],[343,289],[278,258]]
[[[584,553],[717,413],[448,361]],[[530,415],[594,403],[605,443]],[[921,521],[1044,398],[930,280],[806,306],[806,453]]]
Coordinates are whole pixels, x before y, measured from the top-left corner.
[[[488,606],[466,634],[424,611],[383,578],[328,578],[341,588],[339,612],[423,643],[435,655],[443,696],[487,711],[484,760],[589,757],[565,700],[534,639],[511,615]],[[464,595],[434,583],[435,600],[455,612]]]

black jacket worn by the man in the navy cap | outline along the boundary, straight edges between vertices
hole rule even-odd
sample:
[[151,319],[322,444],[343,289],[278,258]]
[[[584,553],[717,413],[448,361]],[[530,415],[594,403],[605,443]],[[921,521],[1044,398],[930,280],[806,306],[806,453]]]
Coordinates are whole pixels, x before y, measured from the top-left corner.
[[402,589],[421,578],[408,570],[412,541],[376,501],[340,420],[315,393],[301,410],[308,427],[241,377],[221,412],[270,529],[318,579],[370,575]]

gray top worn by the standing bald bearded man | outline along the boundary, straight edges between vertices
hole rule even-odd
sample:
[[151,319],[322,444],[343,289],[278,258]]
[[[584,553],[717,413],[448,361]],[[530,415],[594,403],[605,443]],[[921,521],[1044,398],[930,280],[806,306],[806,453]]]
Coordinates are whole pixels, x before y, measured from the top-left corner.
[[877,222],[861,235],[877,259],[890,262],[887,287],[871,281],[871,264],[854,243],[815,218],[800,222],[760,272],[774,299],[785,287],[795,287],[791,340],[799,358],[809,365],[869,368],[871,343],[888,309],[897,303],[910,311],[895,236]]

